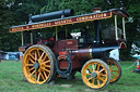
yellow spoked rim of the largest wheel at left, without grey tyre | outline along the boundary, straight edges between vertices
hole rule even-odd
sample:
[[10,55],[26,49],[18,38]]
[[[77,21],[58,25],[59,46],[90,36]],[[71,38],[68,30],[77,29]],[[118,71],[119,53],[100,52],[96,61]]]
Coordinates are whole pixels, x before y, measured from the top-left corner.
[[30,82],[38,84],[46,82],[50,76],[50,58],[44,49],[34,47],[26,51],[23,60],[23,71]]

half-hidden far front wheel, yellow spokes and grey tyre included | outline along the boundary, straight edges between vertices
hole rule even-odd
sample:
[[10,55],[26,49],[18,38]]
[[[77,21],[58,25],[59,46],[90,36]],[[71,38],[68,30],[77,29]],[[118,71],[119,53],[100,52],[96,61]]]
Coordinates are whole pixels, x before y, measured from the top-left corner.
[[114,58],[108,58],[108,64],[112,74],[110,83],[117,82],[121,77],[121,65]]

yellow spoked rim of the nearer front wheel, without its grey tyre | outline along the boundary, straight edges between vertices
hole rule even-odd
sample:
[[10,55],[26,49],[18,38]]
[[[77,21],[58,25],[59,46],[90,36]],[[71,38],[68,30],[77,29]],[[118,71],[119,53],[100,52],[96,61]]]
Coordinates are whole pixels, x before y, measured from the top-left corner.
[[108,82],[106,67],[98,62],[90,62],[82,69],[84,83],[92,89],[103,88]]

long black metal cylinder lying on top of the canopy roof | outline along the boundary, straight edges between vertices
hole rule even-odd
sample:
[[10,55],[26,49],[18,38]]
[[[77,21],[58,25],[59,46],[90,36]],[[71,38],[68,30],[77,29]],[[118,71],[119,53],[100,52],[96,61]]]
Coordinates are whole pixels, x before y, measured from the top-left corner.
[[50,12],[50,13],[45,13],[39,15],[33,15],[31,16],[31,21],[35,23],[35,22],[42,22],[47,19],[61,18],[61,16],[67,17],[73,14],[74,14],[74,11],[72,9],[67,9],[67,10],[61,10],[61,11],[56,11],[56,12]]

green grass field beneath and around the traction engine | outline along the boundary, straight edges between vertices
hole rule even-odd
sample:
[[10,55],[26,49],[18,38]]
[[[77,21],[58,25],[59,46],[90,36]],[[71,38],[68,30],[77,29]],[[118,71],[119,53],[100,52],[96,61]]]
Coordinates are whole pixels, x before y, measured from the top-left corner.
[[[100,92],[140,92],[140,74],[131,73],[136,65],[128,68],[133,62],[121,62],[122,76],[114,84],[108,84]],[[89,90],[82,82],[81,74],[77,73],[77,79],[56,79],[55,84],[32,84],[23,75],[22,63],[15,61],[2,61],[0,63],[0,92],[98,92]],[[61,87],[71,84],[71,88]]]

